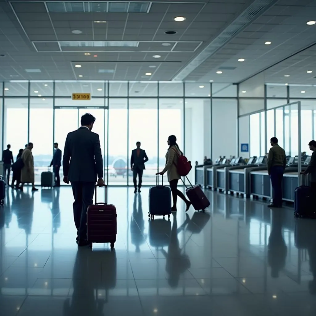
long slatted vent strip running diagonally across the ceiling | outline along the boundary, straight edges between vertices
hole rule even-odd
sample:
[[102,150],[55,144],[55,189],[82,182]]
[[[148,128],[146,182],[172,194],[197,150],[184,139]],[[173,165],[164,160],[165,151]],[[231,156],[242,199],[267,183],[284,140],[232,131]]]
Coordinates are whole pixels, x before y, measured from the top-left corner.
[[190,73],[200,66],[207,58],[219,51],[245,27],[258,19],[278,0],[255,0],[231,24],[229,24],[214,40],[212,40],[191,62],[182,69],[173,80],[185,80]]

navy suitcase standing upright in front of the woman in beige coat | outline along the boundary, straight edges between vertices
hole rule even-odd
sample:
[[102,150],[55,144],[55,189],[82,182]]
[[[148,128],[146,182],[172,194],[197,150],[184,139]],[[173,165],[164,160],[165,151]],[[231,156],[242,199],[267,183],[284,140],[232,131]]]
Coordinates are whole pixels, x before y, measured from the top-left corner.
[[171,214],[171,190],[169,187],[159,185],[159,175],[156,175],[156,185],[149,189],[149,212],[148,217],[154,219],[154,216],[166,216],[170,218]]

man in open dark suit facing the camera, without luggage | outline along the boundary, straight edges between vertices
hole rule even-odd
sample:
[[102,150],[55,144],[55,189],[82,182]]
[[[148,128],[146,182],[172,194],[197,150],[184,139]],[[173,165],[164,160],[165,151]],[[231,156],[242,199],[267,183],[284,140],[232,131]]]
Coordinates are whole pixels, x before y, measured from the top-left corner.
[[148,161],[145,150],[140,149],[140,142],[136,143],[136,149],[132,150],[131,155],[131,170],[133,171],[133,182],[135,191],[137,193],[137,174],[138,174],[138,192],[142,186],[143,171],[145,170],[145,162]]

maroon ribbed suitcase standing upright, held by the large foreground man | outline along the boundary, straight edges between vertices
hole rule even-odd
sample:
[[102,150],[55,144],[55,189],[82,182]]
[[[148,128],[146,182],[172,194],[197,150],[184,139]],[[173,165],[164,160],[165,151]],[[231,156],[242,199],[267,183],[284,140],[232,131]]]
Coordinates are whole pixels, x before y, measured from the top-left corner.
[[95,204],[87,210],[87,240],[91,243],[110,243],[114,248],[117,223],[116,208],[107,204],[107,187],[105,186],[105,203],[97,203],[97,185],[95,186]]

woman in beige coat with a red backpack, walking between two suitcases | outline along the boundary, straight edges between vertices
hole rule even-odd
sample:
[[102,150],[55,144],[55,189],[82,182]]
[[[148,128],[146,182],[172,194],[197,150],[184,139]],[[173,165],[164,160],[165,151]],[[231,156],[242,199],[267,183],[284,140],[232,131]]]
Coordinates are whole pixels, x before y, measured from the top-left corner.
[[177,197],[179,196],[186,204],[185,211],[189,210],[191,206],[191,202],[185,198],[185,195],[178,190],[178,181],[181,179],[179,176],[179,173],[177,171],[177,162],[178,157],[182,154],[182,151],[179,149],[179,146],[177,144],[177,137],[174,135],[170,135],[168,137],[168,145],[169,149],[166,154],[166,166],[165,168],[159,172],[158,174],[163,175],[165,172],[167,172],[167,178],[169,181],[171,193],[172,193],[172,200],[173,200],[173,206],[171,210],[173,212],[177,211]]

